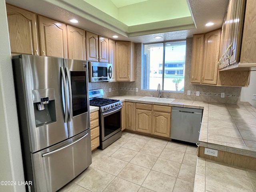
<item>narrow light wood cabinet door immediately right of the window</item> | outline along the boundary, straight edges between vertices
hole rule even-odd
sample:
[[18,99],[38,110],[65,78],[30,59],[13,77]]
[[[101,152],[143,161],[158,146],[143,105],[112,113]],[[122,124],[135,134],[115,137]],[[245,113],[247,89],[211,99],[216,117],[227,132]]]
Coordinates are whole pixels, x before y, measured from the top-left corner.
[[204,57],[204,34],[193,36],[191,83],[201,83]]

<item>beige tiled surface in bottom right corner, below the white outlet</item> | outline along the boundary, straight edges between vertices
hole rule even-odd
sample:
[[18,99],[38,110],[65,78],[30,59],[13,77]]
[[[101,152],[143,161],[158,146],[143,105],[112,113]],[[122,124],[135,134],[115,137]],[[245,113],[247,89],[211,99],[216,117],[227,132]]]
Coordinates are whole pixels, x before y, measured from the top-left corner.
[[198,158],[194,192],[256,192],[256,171]]

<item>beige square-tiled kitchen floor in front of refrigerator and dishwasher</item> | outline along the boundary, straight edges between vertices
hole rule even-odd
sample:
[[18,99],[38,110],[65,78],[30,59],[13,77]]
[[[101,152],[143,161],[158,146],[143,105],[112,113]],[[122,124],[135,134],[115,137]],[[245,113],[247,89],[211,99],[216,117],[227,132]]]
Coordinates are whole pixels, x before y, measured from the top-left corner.
[[193,192],[196,149],[123,132],[58,192]]

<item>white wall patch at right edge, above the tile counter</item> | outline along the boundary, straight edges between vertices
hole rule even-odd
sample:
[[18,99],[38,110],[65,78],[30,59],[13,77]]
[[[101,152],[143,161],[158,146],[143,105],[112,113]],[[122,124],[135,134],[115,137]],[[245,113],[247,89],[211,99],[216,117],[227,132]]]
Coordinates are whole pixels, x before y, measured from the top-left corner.
[[256,100],[252,100],[252,94],[256,94],[256,71],[251,71],[250,84],[243,87],[240,94],[241,101],[247,101],[256,108]]

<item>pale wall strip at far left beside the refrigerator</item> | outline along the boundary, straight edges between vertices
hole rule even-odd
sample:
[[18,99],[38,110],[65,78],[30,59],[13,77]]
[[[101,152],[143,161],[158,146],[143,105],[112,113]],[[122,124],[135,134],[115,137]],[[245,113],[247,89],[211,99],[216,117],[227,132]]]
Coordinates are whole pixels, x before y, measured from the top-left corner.
[[16,110],[12,60],[5,0],[0,0],[0,181],[16,181],[1,186],[4,192],[25,192],[20,134]]

